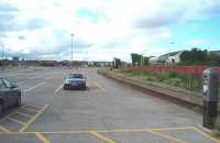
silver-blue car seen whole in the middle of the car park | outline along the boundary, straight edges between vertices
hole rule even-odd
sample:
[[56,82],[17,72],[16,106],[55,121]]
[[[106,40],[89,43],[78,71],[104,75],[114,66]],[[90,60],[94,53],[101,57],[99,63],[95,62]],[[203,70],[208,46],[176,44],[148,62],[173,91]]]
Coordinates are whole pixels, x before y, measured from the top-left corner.
[[66,89],[86,90],[86,78],[84,74],[69,74],[64,81],[64,90]]

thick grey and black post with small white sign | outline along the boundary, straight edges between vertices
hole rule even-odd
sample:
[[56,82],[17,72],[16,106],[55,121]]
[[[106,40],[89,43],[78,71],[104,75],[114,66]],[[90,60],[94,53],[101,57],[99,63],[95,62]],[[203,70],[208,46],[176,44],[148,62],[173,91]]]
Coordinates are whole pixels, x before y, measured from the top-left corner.
[[208,68],[202,73],[204,79],[204,127],[213,129],[215,121],[218,117],[218,96],[219,96],[219,77],[218,72]]

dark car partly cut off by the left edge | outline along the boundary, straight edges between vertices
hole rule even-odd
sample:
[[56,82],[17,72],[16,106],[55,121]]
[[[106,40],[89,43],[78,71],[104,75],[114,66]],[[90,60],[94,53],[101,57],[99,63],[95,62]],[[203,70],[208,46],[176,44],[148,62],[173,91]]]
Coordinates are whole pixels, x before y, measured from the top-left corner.
[[7,78],[0,77],[0,114],[12,106],[21,106],[21,90]]

